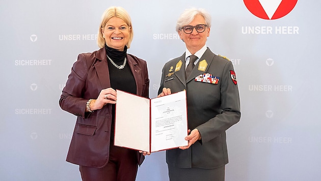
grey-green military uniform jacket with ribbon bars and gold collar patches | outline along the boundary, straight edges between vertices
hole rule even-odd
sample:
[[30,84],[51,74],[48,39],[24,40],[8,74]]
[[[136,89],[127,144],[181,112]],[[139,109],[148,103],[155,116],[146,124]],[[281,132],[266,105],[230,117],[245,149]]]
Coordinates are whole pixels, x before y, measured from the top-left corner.
[[197,128],[201,141],[189,149],[166,151],[169,165],[180,168],[217,168],[228,163],[225,131],[240,119],[240,103],[233,65],[206,49],[187,80],[185,53],[165,64],[161,86],[172,93],[186,90],[188,126]]

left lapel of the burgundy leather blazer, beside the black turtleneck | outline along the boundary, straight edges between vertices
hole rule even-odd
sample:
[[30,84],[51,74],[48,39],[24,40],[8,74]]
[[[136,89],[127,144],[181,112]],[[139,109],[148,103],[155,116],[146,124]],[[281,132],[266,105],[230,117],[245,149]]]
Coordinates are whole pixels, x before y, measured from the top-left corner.
[[109,77],[109,69],[108,69],[108,62],[106,56],[105,48],[101,48],[96,53],[96,59],[98,60],[97,63],[94,65],[99,82],[102,85],[102,88],[111,87],[111,81]]

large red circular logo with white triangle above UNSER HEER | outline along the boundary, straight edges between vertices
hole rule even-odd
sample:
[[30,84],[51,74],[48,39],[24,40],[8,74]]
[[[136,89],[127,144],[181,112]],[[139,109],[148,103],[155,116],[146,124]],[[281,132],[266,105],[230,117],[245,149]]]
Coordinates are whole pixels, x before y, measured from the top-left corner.
[[279,19],[289,14],[298,0],[243,0],[248,10],[262,19]]

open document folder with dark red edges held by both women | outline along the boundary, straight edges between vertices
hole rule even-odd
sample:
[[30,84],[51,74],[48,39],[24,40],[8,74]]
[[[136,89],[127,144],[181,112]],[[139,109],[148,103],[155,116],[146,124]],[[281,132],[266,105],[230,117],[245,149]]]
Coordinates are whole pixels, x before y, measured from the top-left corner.
[[188,145],[185,90],[153,99],[116,91],[115,146],[152,153]]

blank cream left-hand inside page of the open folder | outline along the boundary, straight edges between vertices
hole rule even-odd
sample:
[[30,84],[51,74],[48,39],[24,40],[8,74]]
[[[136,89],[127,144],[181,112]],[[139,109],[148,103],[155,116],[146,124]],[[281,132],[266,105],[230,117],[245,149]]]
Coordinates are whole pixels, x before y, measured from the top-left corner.
[[116,92],[114,145],[150,152],[150,99]]

